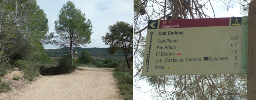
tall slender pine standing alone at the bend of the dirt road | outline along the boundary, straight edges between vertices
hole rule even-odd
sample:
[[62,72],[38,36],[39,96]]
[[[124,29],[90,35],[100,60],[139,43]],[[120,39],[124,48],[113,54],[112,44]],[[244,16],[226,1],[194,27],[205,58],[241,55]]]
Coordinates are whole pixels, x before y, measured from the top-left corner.
[[92,35],[92,23],[84,17],[85,14],[81,9],[76,9],[73,2],[68,1],[64,4],[58,13],[58,20],[55,21],[57,40],[54,40],[56,45],[60,47],[70,47],[69,66],[72,66],[72,47],[86,46],[90,43]]

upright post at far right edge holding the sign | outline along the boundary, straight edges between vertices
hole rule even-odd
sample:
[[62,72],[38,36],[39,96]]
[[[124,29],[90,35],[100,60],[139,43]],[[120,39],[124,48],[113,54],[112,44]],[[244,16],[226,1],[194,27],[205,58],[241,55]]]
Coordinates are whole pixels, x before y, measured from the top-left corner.
[[256,100],[256,0],[249,5],[247,100]]

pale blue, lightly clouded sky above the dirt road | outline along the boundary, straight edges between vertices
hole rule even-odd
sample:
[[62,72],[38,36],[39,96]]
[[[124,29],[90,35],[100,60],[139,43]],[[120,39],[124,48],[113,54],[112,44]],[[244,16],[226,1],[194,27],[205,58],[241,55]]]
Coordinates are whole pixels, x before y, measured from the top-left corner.
[[[117,21],[133,23],[133,0],[70,0],[77,9],[85,13],[85,18],[92,22],[91,43],[86,48],[108,48],[101,37],[108,32],[108,26]],[[58,13],[68,0],[36,0],[48,18],[49,33],[55,32],[54,22]],[[57,34],[55,34],[57,35]],[[44,49],[60,48],[54,45],[44,45]],[[85,47],[83,47],[85,48]]]

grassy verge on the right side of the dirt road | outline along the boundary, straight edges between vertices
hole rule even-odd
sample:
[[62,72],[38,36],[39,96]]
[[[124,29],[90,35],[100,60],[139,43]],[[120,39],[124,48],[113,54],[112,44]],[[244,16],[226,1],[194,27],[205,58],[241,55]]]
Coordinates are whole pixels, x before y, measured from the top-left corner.
[[[126,63],[120,63],[114,70],[113,76],[118,80],[118,88],[121,94],[128,100],[133,100],[132,70],[126,68]],[[132,69],[132,68],[131,68]]]

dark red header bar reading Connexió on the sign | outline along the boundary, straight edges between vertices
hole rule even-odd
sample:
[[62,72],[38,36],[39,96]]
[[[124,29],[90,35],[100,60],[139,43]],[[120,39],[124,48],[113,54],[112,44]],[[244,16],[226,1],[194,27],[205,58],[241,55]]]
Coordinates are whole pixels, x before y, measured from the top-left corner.
[[180,19],[160,20],[159,28],[192,28],[210,26],[229,26],[230,18],[204,18],[204,19]]

